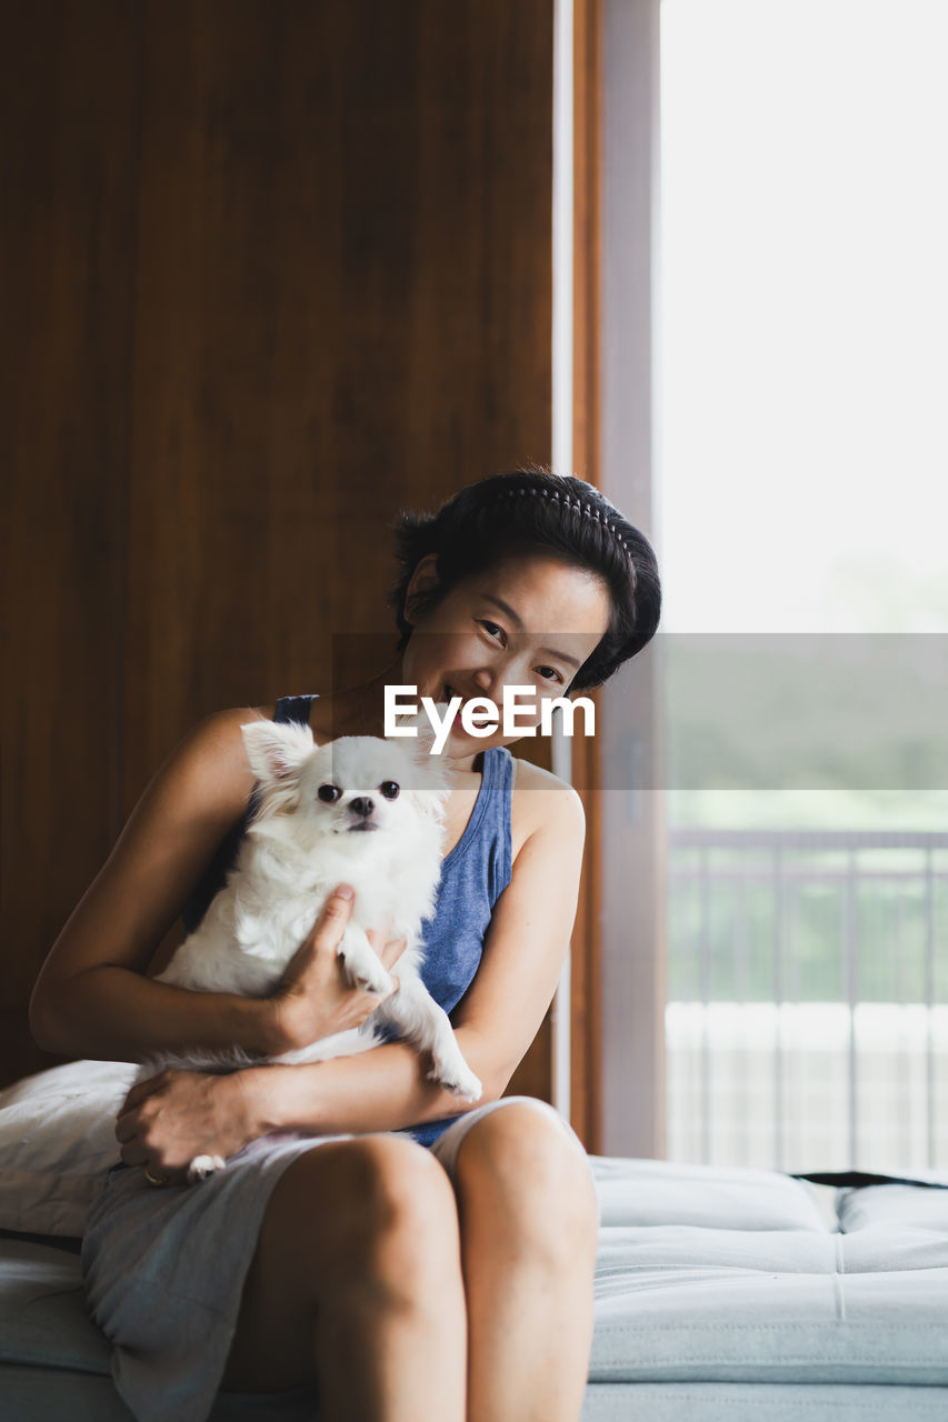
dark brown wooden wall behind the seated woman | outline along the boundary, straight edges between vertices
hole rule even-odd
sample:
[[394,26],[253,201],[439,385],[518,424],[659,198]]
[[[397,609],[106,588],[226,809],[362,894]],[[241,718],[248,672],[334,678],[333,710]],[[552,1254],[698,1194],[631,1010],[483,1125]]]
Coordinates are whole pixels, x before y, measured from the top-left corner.
[[33,0],[4,31],[10,1081],[186,727],[387,634],[399,508],[549,459],[552,0]]

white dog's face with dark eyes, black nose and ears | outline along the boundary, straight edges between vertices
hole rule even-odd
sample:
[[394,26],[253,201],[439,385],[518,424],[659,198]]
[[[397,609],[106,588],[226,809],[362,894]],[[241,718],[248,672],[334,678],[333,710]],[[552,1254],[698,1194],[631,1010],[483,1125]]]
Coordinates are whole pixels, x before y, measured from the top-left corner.
[[350,735],[315,745],[309,727],[242,727],[265,815],[292,815],[307,840],[410,835],[420,816],[440,819],[447,768],[423,744]]

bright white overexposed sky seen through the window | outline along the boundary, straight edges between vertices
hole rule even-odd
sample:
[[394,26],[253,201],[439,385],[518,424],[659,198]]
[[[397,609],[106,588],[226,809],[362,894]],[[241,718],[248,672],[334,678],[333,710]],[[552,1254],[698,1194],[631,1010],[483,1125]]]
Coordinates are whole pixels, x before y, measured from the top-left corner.
[[948,0],[662,0],[665,631],[948,631]]

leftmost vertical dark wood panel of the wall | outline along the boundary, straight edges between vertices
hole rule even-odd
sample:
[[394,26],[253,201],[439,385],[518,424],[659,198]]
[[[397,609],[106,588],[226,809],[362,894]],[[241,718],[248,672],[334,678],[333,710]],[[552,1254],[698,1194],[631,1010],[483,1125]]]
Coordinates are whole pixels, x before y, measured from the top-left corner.
[[134,326],[134,6],[7,7],[3,219],[4,1078],[24,1005],[121,813],[117,748]]

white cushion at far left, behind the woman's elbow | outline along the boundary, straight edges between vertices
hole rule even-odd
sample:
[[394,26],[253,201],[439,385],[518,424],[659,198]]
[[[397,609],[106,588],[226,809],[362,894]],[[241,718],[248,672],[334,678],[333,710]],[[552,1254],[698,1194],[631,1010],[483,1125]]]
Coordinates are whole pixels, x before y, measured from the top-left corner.
[[0,1229],[80,1236],[118,1160],[115,1113],[138,1068],[67,1062],[0,1092]]

